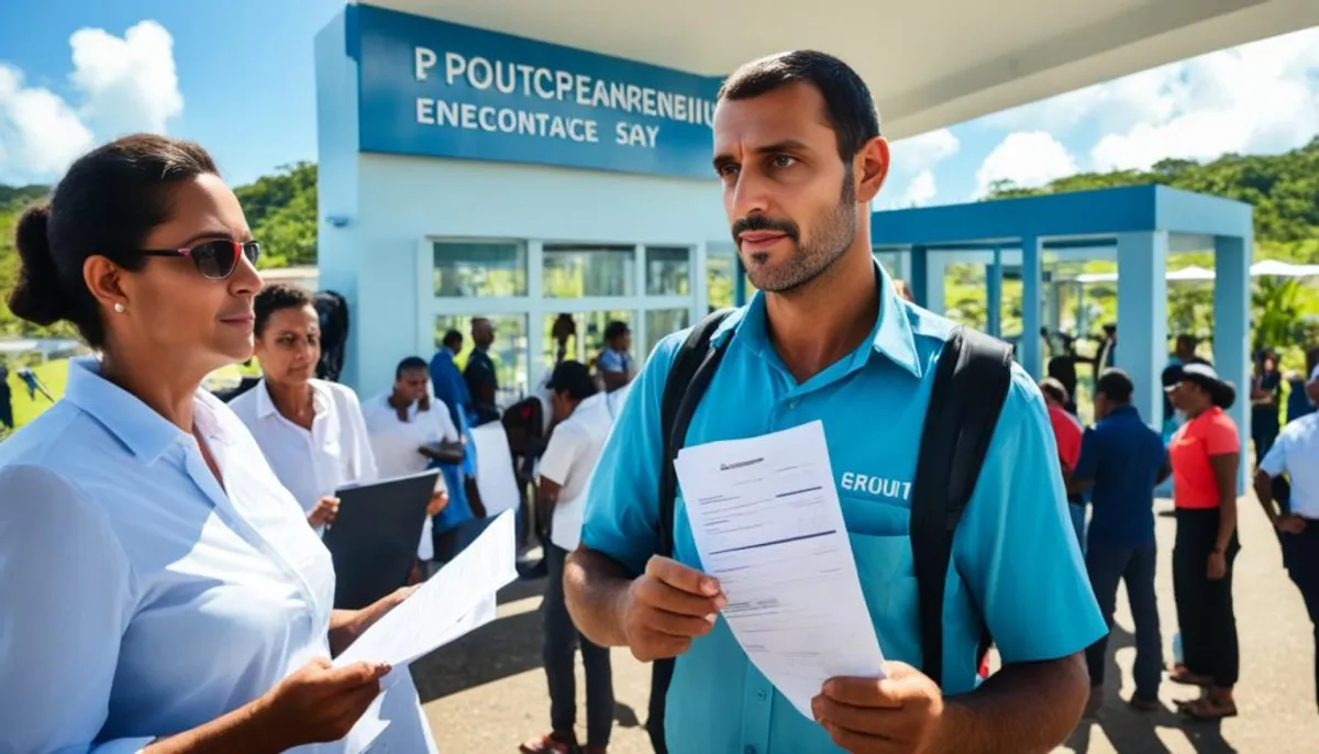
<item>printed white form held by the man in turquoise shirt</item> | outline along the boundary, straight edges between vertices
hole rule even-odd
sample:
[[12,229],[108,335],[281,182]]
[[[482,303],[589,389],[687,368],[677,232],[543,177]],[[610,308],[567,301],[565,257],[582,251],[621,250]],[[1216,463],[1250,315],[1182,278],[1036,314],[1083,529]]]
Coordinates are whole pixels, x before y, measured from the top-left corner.
[[685,448],[675,468],[703,569],[760,672],[806,717],[826,680],[882,678],[823,424]]

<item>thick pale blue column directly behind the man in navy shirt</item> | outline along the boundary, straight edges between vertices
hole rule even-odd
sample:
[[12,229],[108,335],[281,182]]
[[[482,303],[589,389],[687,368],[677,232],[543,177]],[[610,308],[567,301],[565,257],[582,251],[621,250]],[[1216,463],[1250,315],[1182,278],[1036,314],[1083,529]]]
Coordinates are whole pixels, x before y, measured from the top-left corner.
[[1163,426],[1167,365],[1167,232],[1117,236],[1117,355],[1136,384],[1132,405],[1155,431]]

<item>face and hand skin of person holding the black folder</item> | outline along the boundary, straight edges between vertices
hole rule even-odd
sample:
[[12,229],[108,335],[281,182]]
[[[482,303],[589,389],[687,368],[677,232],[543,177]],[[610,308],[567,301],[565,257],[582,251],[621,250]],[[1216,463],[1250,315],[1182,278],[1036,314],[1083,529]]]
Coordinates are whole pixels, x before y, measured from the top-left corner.
[[[265,330],[255,339],[255,353],[276,410],[285,419],[311,431],[311,422],[317,418],[311,380],[321,360],[321,316],[317,310],[307,304],[270,312]],[[338,514],[339,498],[326,496],[317,501],[307,523],[313,527],[331,525]]]

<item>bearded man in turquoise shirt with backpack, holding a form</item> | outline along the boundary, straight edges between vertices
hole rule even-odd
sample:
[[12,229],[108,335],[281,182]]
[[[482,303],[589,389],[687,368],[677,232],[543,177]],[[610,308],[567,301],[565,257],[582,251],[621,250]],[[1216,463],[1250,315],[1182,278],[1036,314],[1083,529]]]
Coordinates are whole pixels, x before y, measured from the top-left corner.
[[[893,662],[882,682],[831,679],[806,717],[719,618],[725,601],[700,572],[681,496],[674,558],[656,555],[661,395],[686,334],[654,349],[592,477],[582,546],[565,573],[578,627],[642,660],[678,658],[665,717],[674,751],[1051,750],[1080,717],[1080,652],[1105,626],[1039,390],[1013,369],[956,531],[940,691],[915,670],[907,526],[934,365],[952,326],[901,301],[871,253],[869,206],[889,148],[869,91],[830,55],[782,53],[724,83],[714,130],[724,210],[758,291],[715,334],[725,355],[686,446],[823,423],[861,591]],[[1004,668],[977,688],[983,625]]]

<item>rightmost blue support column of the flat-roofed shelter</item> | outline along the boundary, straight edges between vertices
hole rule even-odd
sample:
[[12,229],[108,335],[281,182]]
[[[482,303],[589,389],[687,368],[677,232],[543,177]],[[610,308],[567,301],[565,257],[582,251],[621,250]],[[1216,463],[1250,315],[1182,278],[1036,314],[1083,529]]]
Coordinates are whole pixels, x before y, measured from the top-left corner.
[[1253,237],[1213,239],[1213,368],[1237,390],[1228,415],[1241,435],[1241,475],[1237,494],[1253,476],[1246,450],[1250,442],[1250,254]]

